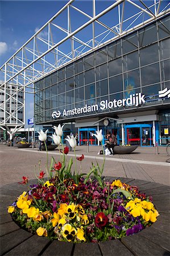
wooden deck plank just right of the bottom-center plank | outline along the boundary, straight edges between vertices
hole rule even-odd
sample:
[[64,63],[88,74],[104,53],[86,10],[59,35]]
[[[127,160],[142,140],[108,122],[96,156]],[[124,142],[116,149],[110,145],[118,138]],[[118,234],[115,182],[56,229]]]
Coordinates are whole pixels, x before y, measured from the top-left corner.
[[113,256],[113,255],[132,256],[132,255],[134,255],[119,240],[99,242],[99,247],[101,249],[101,253],[103,256]]

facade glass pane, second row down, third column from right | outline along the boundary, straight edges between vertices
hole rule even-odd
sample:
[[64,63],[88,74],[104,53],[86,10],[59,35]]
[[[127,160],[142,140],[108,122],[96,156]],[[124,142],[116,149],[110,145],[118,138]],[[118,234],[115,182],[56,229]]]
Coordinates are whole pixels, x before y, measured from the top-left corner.
[[131,69],[139,68],[138,51],[129,53],[123,56],[123,70],[130,71]]

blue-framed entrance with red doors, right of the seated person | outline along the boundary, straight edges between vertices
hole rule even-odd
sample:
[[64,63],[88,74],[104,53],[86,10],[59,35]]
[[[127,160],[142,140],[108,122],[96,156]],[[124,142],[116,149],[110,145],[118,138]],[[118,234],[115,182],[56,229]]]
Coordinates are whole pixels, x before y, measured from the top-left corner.
[[152,125],[125,125],[125,143],[136,146],[152,146]]

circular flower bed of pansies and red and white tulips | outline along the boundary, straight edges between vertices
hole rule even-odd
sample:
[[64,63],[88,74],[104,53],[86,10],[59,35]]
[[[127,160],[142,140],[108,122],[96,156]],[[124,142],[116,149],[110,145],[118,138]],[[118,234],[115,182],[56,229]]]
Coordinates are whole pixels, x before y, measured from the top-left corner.
[[[63,127],[55,128],[62,136]],[[44,136],[40,140],[45,141],[47,133],[40,133]],[[102,141],[101,131],[94,135]],[[75,152],[76,138],[68,136],[67,140]],[[29,186],[28,177],[23,177],[20,183],[26,184],[28,191],[24,191],[8,208],[20,226],[51,240],[78,243],[122,238],[138,233],[156,221],[159,213],[152,197],[140,194],[137,187],[120,180],[102,180],[105,156],[101,167],[92,163],[89,174],[85,175],[81,173],[84,155],[78,157],[75,154],[72,173],[73,160],[71,158],[67,164],[68,151],[68,147],[63,147],[60,161],[56,162],[52,157],[50,167],[47,151],[47,181],[40,166],[37,184]],[[80,162],[80,174],[76,161]]]

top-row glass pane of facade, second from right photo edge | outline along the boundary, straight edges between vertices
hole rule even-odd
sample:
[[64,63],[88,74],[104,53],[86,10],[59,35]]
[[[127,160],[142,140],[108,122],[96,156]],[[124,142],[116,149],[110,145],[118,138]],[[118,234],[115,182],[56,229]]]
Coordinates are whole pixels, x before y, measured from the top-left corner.
[[156,23],[139,31],[139,47],[147,46],[157,41]]

